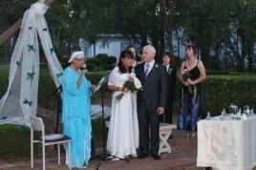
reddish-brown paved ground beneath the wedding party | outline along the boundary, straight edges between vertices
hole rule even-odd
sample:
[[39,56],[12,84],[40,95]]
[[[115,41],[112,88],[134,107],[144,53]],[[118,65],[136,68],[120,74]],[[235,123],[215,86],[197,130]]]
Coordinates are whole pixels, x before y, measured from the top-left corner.
[[[169,143],[172,146],[171,154],[162,154],[160,160],[147,157],[146,159],[129,159],[130,162],[123,160],[110,160],[102,162],[99,170],[203,170],[196,167],[197,159],[197,139],[185,139],[181,131],[174,131]],[[47,159],[47,170],[66,170],[65,159],[62,157],[61,165],[57,165],[56,158]],[[94,159],[90,162],[88,170],[96,170],[99,160]],[[40,170],[41,160],[36,160],[34,170]],[[29,170],[30,161],[15,162],[9,164],[1,163],[1,170]]]

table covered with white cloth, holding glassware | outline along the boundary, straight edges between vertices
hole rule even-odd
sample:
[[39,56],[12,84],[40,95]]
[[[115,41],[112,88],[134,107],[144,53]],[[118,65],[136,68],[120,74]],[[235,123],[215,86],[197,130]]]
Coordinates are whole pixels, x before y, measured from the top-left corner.
[[197,166],[218,170],[251,170],[256,166],[256,116],[200,120]]

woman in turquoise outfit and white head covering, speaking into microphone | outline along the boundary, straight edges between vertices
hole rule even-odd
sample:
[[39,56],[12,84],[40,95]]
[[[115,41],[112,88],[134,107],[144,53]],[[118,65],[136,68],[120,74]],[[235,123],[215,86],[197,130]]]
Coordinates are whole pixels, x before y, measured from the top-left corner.
[[[85,168],[91,158],[91,90],[85,77],[84,54],[75,52],[69,60],[70,66],[61,76],[63,91],[62,123],[64,136],[72,138],[72,167]],[[68,145],[65,146],[69,151]],[[68,153],[69,154],[69,153]],[[66,164],[69,160],[66,159]]]

